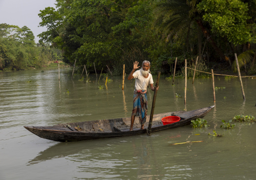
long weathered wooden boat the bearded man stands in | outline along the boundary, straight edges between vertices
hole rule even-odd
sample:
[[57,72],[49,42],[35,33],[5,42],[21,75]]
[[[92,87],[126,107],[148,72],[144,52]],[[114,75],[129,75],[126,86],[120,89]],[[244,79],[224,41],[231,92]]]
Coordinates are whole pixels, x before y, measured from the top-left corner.
[[[155,114],[153,116],[151,132],[171,129],[184,125],[189,125],[191,120],[203,118],[214,106],[205,107],[192,111],[176,111]],[[179,116],[180,121],[163,125],[161,119],[166,116]],[[149,116],[147,119],[149,120]],[[138,121],[136,117],[135,122]],[[100,139],[119,136],[130,136],[147,133],[147,129],[140,129],[140,124],[134,124],[134,130],[130,131],[131,118],[102,119],[95,121],[60,123],[54,126],[24,126],[30,132],[39,137],[59,141],[80,141],[90,139]],[[148,126],[146,122],[145,127]]]

